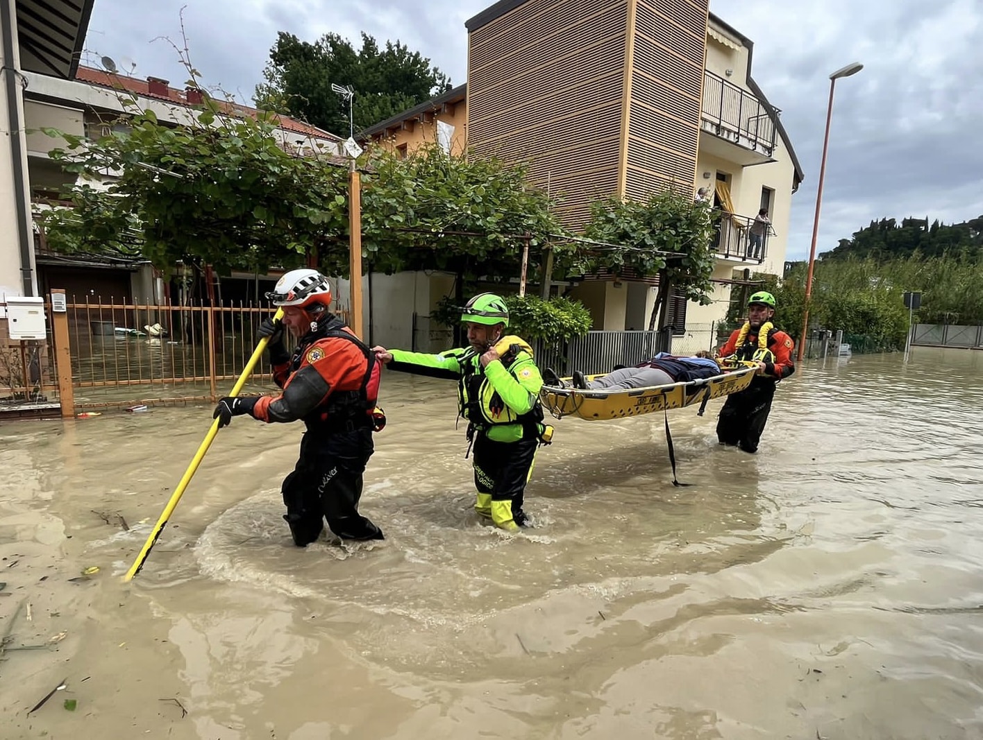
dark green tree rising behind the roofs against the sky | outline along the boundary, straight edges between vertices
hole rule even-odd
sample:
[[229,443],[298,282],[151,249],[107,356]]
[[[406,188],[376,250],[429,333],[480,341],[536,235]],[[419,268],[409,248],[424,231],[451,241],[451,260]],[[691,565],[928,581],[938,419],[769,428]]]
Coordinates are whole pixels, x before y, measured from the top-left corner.
[[429,100],[450,83],[419,52],[399,41],[379,48],[367,33],[356,50],[337,33],[309,43],[280,31],[263,77],[255,95],[259,108],[288,113],[343,137],[349,131],[349,104],[331,84],[355,90],[352,116],[359,132]]

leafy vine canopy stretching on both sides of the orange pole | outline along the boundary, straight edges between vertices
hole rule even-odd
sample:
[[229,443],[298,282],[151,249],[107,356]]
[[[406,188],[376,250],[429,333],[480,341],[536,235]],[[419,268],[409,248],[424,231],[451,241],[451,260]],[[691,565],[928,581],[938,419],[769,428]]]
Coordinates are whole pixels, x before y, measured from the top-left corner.
[[[289,268],[317,255],[327,274],[349,274],[348,168],[337,157],[284,147],[276,117],[225,119],[203,108],[188,126],[136,112],[128,132],[68,142],[51,156],[86,176],[52,213],[49,243],[63,251],[141,253],[232,269]],[[519,274],[526,235],[536,249],[560,227],[523,167],[468,159],[438,145],[400,159],[364,155],[364,269],[449,270],[466,279]],[[110,177],[106,178],[106,175]],[[97,188],[89,183],[103,181]]]

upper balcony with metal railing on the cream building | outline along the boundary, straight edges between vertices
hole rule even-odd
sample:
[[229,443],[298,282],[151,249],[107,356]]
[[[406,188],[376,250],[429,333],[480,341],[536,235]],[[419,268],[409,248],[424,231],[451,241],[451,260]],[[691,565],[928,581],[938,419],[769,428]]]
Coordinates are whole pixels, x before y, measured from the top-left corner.
[[[776,109],[776,113],[779,111]],[[770,162],[776,126],[769,109],[753,94],[712,72],[704,73],[700,146],[741,165]]]

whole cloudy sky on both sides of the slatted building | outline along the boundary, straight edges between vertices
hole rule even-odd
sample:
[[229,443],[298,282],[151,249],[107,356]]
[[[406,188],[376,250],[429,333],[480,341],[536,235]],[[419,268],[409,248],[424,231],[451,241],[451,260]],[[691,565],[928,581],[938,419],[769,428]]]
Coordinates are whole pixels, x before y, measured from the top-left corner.
[[[137,63],[135,75],[180,84],[187,75],[163,40],[184,13],[195,66],[246,102],[278,30],[313,41],[333,31],[396,39],[466,80],[464,22],[492,0],[95,0],[87,61]],[[753,77],[782,111],[806,180],[792,198],[788,259],[808,254],[826,122],[837,83],[818,251],[872,219],[983,214],[983,3],[979,0],[711,0],[711,11],[755,42]]]

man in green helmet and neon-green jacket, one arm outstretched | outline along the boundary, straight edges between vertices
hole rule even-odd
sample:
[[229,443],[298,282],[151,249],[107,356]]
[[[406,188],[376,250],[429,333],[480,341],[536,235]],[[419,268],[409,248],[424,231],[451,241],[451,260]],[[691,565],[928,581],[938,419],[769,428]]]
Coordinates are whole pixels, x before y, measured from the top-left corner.
[[458,409],[468,420],[474,445],[475,510],[496,527],[518,531],[526,482],[536,449],[548,444],[552,427],[543,424],[543,378],[529,344],[503,336],[508,308],[501,296],[476,295],[463,308],[470,346],[439,354],[376,346],[376,359],[391,370],[457,381]]

